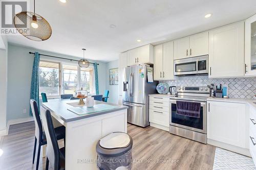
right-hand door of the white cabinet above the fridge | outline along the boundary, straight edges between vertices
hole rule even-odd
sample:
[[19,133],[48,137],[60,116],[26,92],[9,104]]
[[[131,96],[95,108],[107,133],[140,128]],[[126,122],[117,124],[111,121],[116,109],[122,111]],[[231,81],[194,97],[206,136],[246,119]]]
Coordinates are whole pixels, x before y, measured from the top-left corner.
[[138,47],[137,64],[153,63],[153,48],[151,44]]

